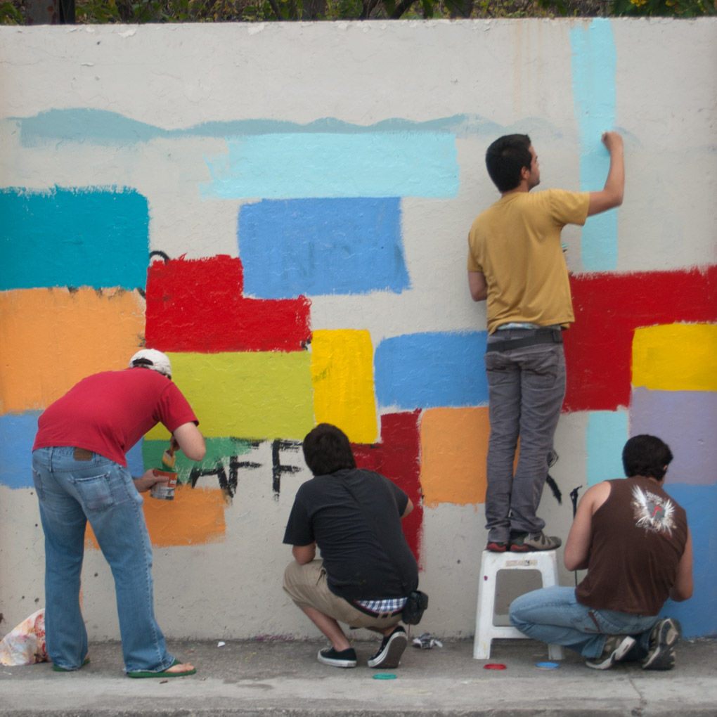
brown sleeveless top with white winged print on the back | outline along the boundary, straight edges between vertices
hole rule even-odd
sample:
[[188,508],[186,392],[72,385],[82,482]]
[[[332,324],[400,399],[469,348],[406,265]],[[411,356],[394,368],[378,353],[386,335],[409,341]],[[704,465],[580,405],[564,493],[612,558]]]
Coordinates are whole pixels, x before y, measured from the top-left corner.
[[576,599],[596,609],[656,615],[685,552],[685,511],[649,478],[609,483],[610,495],[592,516],[588,572]]

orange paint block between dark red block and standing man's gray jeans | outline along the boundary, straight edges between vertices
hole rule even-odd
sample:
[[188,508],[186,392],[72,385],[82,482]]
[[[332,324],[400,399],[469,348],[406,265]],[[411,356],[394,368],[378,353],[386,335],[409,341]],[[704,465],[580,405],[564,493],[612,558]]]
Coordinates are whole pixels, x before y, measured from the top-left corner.
[[488,408],[434,408],[421,417],[424,505],[485,503]]

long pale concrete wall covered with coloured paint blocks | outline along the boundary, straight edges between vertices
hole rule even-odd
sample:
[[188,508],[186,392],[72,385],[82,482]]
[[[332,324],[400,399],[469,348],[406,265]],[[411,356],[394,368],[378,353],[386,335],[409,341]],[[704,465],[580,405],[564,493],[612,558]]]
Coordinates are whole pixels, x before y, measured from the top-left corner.
[[[422,629],[471,635],[488,417],[465,260],[498,196],[485,148],[527,132],[544,187],[601,189],[616,128],[625,203],[564,231],[563,501],[546,490],[540,513],[565,537],[571,490],[621,476],[629,435],[663,437],[696,579],[666,609],[717,632],[715,67],[715,19],[1,27],[2,627],[44,603],[39,412],[146,342],[209,438],[174,503],[145,503],[168,635],[317,634],[280,580],[319,421],[422,495]],[[130,452],[135,475],[166,437]],[[90,635],[118,637],[87,545]]]

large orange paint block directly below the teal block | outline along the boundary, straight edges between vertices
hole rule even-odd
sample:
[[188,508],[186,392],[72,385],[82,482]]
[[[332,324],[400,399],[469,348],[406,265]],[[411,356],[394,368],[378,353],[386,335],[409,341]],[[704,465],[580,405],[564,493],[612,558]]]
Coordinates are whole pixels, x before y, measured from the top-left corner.
[[85,376],[124,369],[142,346],[144,314],[137,291],[0,292],[0,415],[44,409]]

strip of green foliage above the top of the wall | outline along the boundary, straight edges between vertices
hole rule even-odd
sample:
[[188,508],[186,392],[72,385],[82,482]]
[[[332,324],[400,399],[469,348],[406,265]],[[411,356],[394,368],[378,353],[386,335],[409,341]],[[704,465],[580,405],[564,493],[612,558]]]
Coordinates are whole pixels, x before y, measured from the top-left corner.
[[[0,24],[24,24],[24,5],[0,0]],[[87,24],[715,14],[717,0],[75,0]]]

